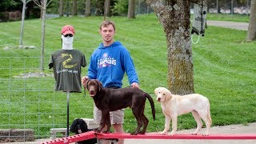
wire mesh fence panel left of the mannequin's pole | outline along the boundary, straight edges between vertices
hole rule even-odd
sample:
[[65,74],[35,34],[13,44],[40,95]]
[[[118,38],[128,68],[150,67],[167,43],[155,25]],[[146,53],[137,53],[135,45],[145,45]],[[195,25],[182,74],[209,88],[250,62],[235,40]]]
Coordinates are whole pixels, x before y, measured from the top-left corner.
[[39,57],[0,62],[0,143],[50,138],[51,128],[66,127],[66,94],[54,91],[53,74],[40,71]]

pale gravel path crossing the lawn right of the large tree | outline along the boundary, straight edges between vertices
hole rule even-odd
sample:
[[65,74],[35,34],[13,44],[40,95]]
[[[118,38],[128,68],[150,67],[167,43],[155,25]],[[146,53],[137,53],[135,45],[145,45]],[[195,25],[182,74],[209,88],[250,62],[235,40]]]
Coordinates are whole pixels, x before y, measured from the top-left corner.
[[206,21],[207,26],[219,26],[235,30],[248,30],[247,22]]

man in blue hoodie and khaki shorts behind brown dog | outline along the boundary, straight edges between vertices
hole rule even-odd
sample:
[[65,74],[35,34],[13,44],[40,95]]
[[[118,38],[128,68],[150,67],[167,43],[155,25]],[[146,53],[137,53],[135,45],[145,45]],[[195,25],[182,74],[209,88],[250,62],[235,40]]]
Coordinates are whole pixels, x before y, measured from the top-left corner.
[[[82,84],[85,85],[88,79],[98,79],[102,82],[103,87],[118,89],[122,87],[122,79],[126,73],[130,86],[139,88],[138,75],[129,51],[122,46],[121,42],[114,42],[114,22],[109,20],[102,22],[99,34],[102,35],[102,43],[90,57],[88,74],[82,77]],[[101,116],[101,111],[94,106],[94,120],[98,124],[101,121]],[[110,121],[115,133],[123,132],[123,118],[124,110],[110,112]],[[123,139],[118,140],[118,144],[123,144],[123,142]]]

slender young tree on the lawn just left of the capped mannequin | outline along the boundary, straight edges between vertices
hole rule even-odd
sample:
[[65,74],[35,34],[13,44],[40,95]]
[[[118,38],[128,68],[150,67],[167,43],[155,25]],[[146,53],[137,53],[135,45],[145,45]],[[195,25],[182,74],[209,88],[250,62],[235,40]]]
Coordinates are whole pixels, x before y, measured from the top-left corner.
[[50,4],[52,0],[47,2],[47,0],[43,0],[42,3],[38,2],[38,0],[33,0],[38,6],[42,6],[42,43],[41,43],[41,63],[40,70],[44,71],[44,58],[45,58],[45,31],[46,31],[46,7]]

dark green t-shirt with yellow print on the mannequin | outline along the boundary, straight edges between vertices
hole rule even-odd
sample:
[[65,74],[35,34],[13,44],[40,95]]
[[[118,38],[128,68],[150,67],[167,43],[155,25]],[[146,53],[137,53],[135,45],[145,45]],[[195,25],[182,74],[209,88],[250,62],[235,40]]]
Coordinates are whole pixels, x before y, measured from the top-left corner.
[[81,66],[86,66],[86,58],[79,50],[62,49],[51,54],[49,69],[54,68],[55,90],[81,92]]

